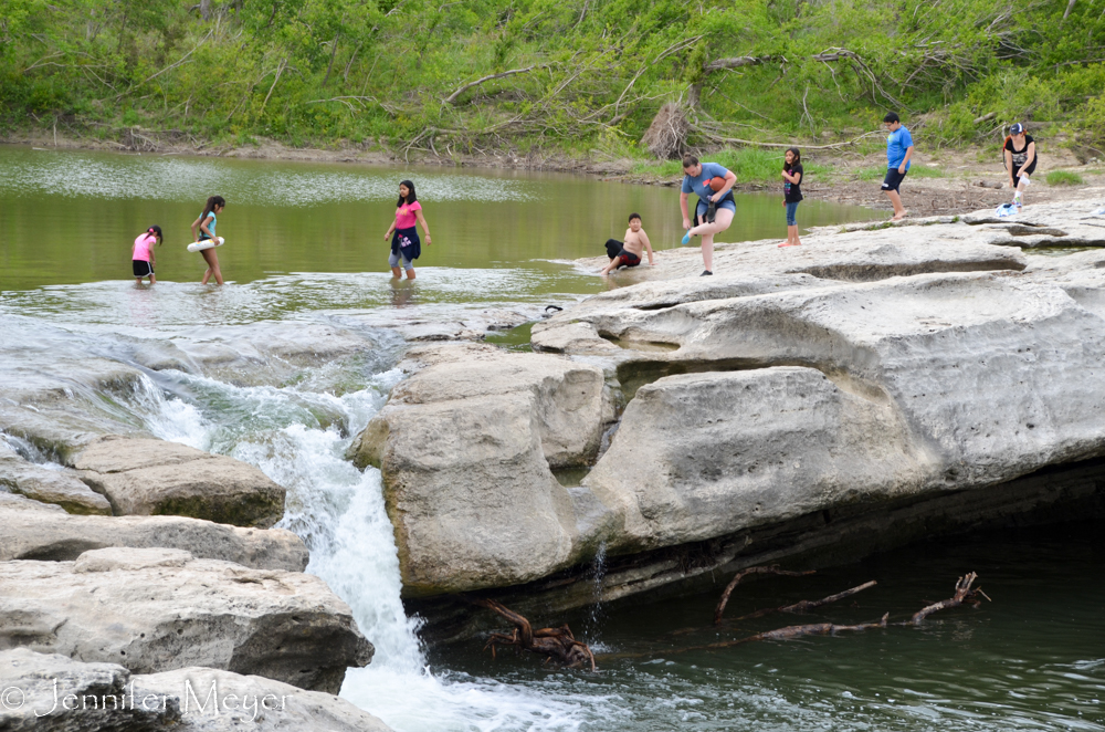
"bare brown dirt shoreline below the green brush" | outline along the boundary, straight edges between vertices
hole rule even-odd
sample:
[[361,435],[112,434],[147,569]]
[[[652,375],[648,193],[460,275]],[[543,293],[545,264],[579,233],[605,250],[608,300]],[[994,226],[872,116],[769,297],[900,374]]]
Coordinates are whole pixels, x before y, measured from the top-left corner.
[[[91,150],[123,155],[181,155],[293,163],[528,170],[587,176],[604,182],[625,185],[672,188],[678,186],[676,178],[639,169],[642,164],[655,165],[660,161],[625,157],[602,160],[577,158],[561,153],[518,155],[513,150],[492,150],[478,155],[454,153],[446,157],[431,150],[389,149],[386,140],[377,140],[371,145],[340,140],[330,148],[297,148],[276,140],[259,138],[254,143],[234,146],[198,140],[179,130],[147,130],[140,127],[124,129],[122,137],[123,143],[114,139],[35,134],[24,130],[4,135],[0,138],[0,145],[45,151]],[[704,158],[708,158],[709,155],[711,153],[699,154]],[[825,157],[819,157],[818,153],[814,153],[808,156],[807,163],[825,165],[830,171],[819,175],[808,184],[803,182],[802,192],[806,199],[891,212],[890,202],[880,189],[878,177],[872,177],[875,169],[885,165],[881,151],[861,155],[855,150],[834,150],[825,154]],[[918,168],[924,168],[924,172],[918,172]],[[1048,185],[1044,182],[1046,174],[1054,170],[1076,171],[1082,182]],[[1011,198],[1008,185],[1004,182],[1007,174],[1002,165],[994,160],[988,161],[988,151],[982,148],[918,151],[914,157],[911,172],[914,175],[907,176],[903,184],[902,199],[913,218],[971,213],[997,207]],[[1085,198],[1087,190],[1105,187],[1105,167],[1083,165],[1065,150],[1049,150],[1041,154],[1041,169],[1033,184],[1025,195],[1028,205],[1078,201]],[[734,190],[738,194],[772,192],[777,188],[778,186],[766,181],[738,180],[734,186]]]

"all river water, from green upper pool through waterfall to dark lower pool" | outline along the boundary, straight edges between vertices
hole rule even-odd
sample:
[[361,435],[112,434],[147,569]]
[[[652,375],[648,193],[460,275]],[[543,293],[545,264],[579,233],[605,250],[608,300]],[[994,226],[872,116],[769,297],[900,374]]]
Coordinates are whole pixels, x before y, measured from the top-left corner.
[[[811,577],[741,585],[728,615],[876,579],[839,606],[715,630],[714,592],[635,599],[567,618],[598,673],[540,667],[472,640],[423,648],[400,602],[380,475],[344,458],[401,375],[400,333],[472,309],[534,310],[604,285],[565,260],[601,253],[644,216],[657,248],[678,237],[672,189],[565,176],[0,149],[0,346],[33,368],[82,354],[133,363],[135,343],[202,338],[274,321],[358,328],[368,354],[232,378],[146,370],[113,408],[164,439],[227,453],[288,489],[282,525],[376,645],[343,696],[400,732],[469,730],[1105,730],[1105,542],[1096,525],[915,545]],[[434,244],[419,279],[389,280],[383,231],[400,178],[415,180]],[[220,261],[238,284],[201,287],[183,244],[206,196],[223,195]],[[728,240],[780,236],[776,197],[744,197]],[[802,222],[864,211],[803,205]],[[160,282],[136,287],[129,244],[151,223]],[[38,362],[35,360],[38,359]],[[286,366],[286,365],[285,365]],[[144,369],[145,370],[145,369]],[[263,372],[263,368],[260,368]],[[39,459],[44,459],[39,456]],[[602,568],[593,568],[601,575]],[[902,620],[977,572],[992,602],[919,628],[694,650],[785,625]],[[720,578],[719,578],[720,581]]]

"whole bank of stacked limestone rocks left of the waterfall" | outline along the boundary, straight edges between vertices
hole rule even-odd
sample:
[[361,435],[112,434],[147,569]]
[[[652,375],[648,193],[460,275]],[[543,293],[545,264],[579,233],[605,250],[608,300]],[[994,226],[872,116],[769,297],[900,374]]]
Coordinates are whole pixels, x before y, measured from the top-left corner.
[[373,647],[273,527],[284,487],[156,439],[126,406],[158,369],[260,385],[373,344],[277,324],[127,358],[40,342],[51,358],[0,347],[0,728],[387,730],[335,696]]

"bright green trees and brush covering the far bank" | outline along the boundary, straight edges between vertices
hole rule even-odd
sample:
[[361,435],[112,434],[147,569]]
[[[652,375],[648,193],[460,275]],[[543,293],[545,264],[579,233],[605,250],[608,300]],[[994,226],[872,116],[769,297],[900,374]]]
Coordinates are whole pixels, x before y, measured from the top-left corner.
[[628,151],[667,102],[701,145],[895,108],[935,144],[1105,146],[1103,61],[1093,0],[0,0],[4,125],[439,153]]

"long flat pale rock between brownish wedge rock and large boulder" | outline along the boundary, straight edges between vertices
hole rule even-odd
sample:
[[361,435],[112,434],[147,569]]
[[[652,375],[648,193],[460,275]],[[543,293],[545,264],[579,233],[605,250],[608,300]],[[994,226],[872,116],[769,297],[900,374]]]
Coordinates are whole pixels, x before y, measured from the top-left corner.
[[182,516],[73,516],[6,493],[0,493],[0,526],[3,562],[72,562],[88,550],[109,546],[186,550],[199,558],[286,572],[303,572],[308,560],[303,541],[283,529],[241,529]]

